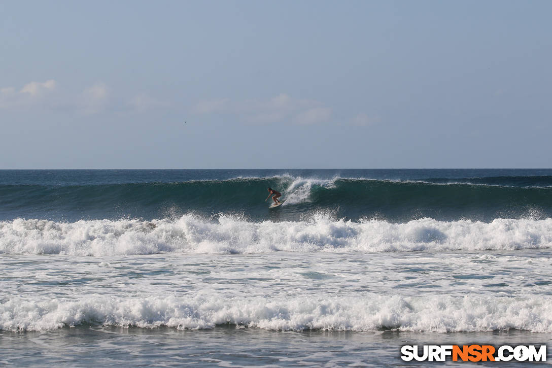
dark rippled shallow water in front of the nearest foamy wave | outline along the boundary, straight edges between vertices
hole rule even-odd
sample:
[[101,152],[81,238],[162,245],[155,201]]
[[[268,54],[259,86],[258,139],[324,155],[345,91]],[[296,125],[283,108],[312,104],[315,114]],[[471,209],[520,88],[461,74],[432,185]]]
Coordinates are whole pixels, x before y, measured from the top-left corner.
[[[197,331],[83,326],[45,333],[0,332],[0,337],[0,364],[6,366],[432,367],[439,363],[402,361],[400,346],[473,343],[543,345],[550,341],[552,334],[518,330],[435,334],[395,331],[268,332],[236,329],[233,326]],[[551,358],[549,350],[547,359]],[[453,362],[449,359],[445,364]],[[458,364],[470,367],[497,365],[496,362]],[[519,367],[520,364],[500,362],[501,367]]]

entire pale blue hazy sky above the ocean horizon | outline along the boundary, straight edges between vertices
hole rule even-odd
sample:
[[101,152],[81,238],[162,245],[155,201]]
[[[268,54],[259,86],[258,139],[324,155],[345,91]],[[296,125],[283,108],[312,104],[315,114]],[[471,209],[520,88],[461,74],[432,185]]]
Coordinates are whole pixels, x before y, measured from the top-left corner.
[[550,167],[550,14],[3,1],[0,169]]

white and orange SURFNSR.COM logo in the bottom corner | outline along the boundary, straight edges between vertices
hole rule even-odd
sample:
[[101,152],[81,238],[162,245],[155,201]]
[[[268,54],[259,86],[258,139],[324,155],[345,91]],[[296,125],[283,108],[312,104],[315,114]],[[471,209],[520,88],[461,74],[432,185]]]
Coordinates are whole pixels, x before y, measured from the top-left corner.
[[401,359],[445,361],[450,356],[453,361],[546,361],[546,345],[422,345],[420,350],[418,345],[404,345]]

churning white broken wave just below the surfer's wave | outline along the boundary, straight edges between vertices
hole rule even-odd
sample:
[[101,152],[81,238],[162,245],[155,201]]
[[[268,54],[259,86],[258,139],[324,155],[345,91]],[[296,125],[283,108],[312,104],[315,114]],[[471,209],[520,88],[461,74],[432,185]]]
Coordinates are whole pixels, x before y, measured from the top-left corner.
[[515,250],[552,247],[552,218],[490,223],[429,218],[407,223],[337,220],[321,214],[299,222],[250,222],[221,215],[176,220],[0,222],[0,253],[88,256],[163,252],[254,254],[275,251],[375,253]]

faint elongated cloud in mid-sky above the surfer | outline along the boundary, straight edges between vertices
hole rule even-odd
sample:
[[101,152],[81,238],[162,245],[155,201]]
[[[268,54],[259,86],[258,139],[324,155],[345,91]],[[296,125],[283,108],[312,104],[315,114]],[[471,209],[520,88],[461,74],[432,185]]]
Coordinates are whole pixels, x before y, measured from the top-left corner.
[[248,99],[231,101],[228,98],[200,101],[195,111],[206,113],[235,114],[250,123],[276,123],[289,121],[297,124],[315,124],[328,120],[331,109],[319,101],[296,99],[280,93],[267,100]]

